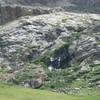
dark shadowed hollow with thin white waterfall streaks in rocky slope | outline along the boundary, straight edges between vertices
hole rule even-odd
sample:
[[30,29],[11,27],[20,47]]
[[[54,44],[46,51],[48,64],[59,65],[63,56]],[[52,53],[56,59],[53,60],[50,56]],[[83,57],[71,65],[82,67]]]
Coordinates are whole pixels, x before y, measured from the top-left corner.
[[71,55],[68,46],[61,47],[52,57],[50,57],[49,65],[55,69],[64,69],[70,66]]

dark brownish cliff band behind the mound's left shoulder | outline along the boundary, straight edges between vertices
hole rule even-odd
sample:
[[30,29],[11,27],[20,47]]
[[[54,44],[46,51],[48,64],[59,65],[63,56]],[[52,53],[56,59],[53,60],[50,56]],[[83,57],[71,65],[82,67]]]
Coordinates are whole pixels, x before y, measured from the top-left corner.
[[[10,22],[12,20],[16,20],[21,16],[26,15],[42,15],[49,14],[56,9],[48,8],[48,7],[26,7],[26,6],[12,6],[6,5],[0,7],[0,24],[4,24]],[[61,8],[58,8],[60,11]]]

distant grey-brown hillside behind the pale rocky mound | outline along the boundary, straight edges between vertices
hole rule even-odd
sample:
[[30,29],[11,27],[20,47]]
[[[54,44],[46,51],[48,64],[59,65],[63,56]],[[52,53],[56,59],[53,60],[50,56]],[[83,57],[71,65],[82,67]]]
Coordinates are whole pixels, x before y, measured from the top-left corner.
[[0,0],[0,24],[25,15],[49,13],[55,7],[71,12],[100,13],[99,6],[99,0]]

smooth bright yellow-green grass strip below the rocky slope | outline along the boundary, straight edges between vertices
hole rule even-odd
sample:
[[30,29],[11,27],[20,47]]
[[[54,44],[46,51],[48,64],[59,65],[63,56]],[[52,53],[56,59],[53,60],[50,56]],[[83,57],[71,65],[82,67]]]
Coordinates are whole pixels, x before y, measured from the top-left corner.
[[0,85],[0,100],[100,100],[100,96],[70,96],[43,90]]

